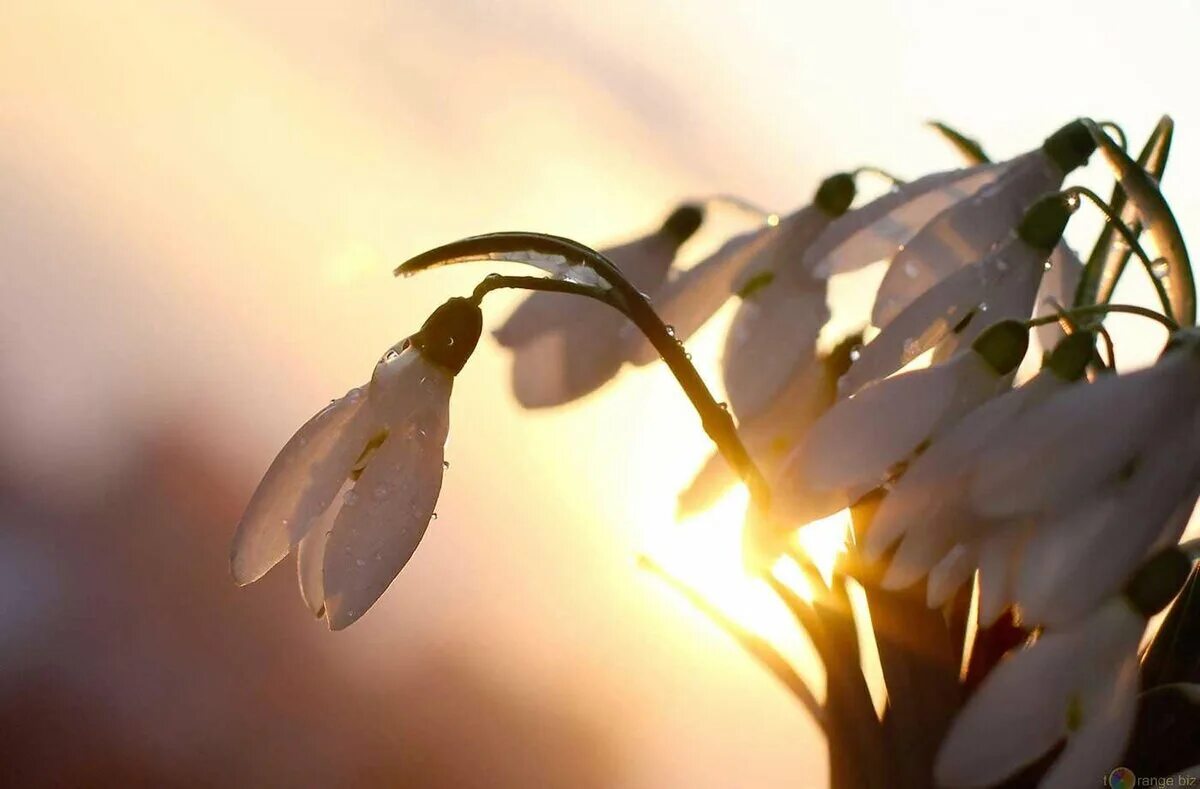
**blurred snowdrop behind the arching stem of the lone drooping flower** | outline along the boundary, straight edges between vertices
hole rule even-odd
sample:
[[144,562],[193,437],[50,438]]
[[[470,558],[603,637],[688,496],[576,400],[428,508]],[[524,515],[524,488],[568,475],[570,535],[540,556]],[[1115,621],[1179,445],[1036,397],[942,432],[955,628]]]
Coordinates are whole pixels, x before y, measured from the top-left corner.
[[[685,205],[662,227],[630,243],[604,251],[643,293],[666,279],[676,252],[703,221]],[[577,266],[594,277],[590,269]],[[574,278],[565,272],[566,278]],[[624,317],[600,302],[554,293],[534,293],[493,335],[512,349],[512,391],[526,408],[562,405],[599,389],[624,363]]]

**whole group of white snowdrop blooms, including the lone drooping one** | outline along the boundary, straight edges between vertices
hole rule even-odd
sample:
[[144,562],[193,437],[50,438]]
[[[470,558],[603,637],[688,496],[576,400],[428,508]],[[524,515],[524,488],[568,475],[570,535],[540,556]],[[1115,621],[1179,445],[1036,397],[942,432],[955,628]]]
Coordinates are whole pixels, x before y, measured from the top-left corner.
[[[684,270],[673,263],[703,222],[701,204],[601,253],[533,234],[426,253],[413,271],[500,259],[552,277],[497,277],[451,300],[366,387],[305,424],[247,507],[234,576],[256,580],[296,549],[304,597],[334,628],[383,594],[433,517],[449,394],[488,290],[544,291],[494,331],[528,408],[574,400],[625,363],[659,359],[655,326],[683,343],[737,297],[722,359],[736,446],[704,411],[698,377],[667,359],[719,445],[680,510],[708,506],[748,468],[769,482],[770,528],[785,534],[874,496],[853,549],[881,589],[919,589],[941,608],[978,577],[979,628],[1007,612],[1030,633],[962,706],[931,766],[936,781],[991,785],[1066,742],[1043,785],[1090,785],[1129,740],[1138,645],[1190,572],[1175,546],[1200,495],[1200,335],[1187,329],[1195,294],[1146,169],[1165,161],[1156,134],[1139,164],[1078,120],[1006,162],[983,161],[976,146],[973,165],[898,183],[859,207],[859,173],[840,173],[811,204],[768,216]],[[1123,266],[1129,243],[1122,255],[1109,242],[1085,266],[1062,240],[1079,201],[1063,180],[1098,145],[1132,205],[1115,215],[1144,227],[1164,255],[1159,266],[1146,259],[1166,275],[1159,319],[1182,326],[1157,362],[1132,373],[1097,353],[1110,307],[1088,299],[1102,279],[1111,293],[1112,261]],[[1126,233],[1132,241],[1135,230]],[[863,327],[870,342],[857,333],[818,353],[829,278],[878,260],[888,263]],[[1046,307],[1063,309],[1061,320],[1033,319]],[[1048,353],[1020,380],[1034,326]],[[906,369],[922,356],[928,366]]]

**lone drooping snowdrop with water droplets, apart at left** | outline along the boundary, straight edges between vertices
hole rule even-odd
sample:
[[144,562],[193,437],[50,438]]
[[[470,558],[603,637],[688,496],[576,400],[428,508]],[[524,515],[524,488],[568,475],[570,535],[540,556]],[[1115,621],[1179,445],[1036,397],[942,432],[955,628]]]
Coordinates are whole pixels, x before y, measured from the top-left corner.
[[433,518],[450,390],[481,325],[478,306],[451,299],[376,365],[367,385],[292,436],[238,524],[239,584],[299,547],[301,592],[330,628],[353,624],[379,598]]

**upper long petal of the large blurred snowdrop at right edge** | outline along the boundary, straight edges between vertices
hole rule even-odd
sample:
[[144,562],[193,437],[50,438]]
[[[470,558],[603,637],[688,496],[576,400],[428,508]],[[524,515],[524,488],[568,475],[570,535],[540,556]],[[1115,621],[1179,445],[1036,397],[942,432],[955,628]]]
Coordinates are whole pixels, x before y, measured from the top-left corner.
[[1154,426],[1195,390],[1189,356],[1168,354],[1148,369],[1070,386],[1022,414],[988,450],[972,483],[974,510],[1008,518],[1090,495],[1158,435]]

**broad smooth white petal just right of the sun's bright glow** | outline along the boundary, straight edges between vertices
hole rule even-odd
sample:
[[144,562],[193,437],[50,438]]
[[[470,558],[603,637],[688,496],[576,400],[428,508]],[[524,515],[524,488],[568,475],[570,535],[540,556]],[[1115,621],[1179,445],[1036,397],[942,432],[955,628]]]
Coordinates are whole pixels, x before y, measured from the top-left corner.
[[994,396],[1003,381],[976,353],[901,373],[840,400],[812,426],[799,471],[815,489],[877,484],[934,433]]

